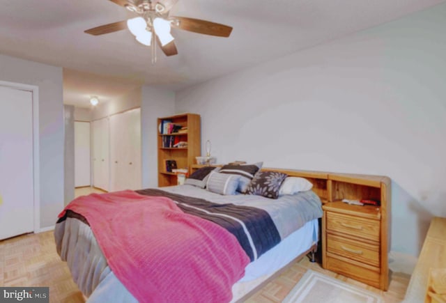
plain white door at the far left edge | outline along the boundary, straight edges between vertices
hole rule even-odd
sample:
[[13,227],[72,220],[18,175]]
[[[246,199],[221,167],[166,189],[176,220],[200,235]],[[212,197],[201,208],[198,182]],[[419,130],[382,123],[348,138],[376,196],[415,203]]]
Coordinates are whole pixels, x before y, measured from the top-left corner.
[[32,102],[0,86],[0,240],[33,231]]

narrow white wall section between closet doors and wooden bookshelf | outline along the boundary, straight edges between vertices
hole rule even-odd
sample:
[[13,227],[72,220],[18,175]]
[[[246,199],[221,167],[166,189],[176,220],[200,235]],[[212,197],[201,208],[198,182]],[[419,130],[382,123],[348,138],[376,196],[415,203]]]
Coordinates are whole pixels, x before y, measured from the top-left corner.
[[158,186],[157,118],[175,113],[175,93],[151,86],[142,87],[141,148],[142,187]]

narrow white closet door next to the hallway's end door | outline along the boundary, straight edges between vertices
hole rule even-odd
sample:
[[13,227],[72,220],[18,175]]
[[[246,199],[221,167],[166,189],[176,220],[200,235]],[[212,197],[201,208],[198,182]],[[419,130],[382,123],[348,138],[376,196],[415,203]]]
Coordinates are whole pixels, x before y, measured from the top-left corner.
[[93,186],[109,191],[109,119],[93,121]]

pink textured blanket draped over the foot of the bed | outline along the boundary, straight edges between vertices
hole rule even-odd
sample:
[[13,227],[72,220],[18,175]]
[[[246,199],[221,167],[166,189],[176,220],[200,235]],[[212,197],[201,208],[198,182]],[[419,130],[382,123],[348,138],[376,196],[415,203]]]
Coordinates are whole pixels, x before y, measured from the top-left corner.
[[91,226],[109,267],[139,302],[229,302],[249,258],[236,238],[171,199],[130,190],[68,204]]

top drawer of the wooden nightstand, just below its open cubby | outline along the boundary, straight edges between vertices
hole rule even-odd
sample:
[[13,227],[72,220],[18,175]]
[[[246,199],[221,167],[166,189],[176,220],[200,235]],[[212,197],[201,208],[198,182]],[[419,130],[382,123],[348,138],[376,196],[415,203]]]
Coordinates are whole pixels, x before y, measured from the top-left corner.
[[347,233],[360,238],[379,241],[380,222],[351,215],[341,215],[336,212],[326,212],[327,230]]

